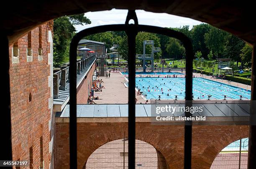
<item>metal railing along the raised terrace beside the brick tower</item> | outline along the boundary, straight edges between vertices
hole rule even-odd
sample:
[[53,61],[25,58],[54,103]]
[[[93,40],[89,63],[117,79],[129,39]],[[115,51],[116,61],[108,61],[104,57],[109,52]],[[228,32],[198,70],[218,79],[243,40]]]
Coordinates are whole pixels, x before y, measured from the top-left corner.
[[[77,75],[80,75],[94,60],[95,54],[77,60]],[[66,90],[67,82],[69,82],[69,66],[61,67],[61,70],[54,72],[54,99],[59,98],[59,90]]]

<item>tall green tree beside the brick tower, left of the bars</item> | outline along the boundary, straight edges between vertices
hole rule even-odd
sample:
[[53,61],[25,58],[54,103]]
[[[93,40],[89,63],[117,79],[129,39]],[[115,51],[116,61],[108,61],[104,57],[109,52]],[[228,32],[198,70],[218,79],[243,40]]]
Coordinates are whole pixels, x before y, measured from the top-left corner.
[[84,14],[62,16],[54,19],[54,66],[60,66],[69,57],[69,44],[76,32],[74,25],[90,24]]

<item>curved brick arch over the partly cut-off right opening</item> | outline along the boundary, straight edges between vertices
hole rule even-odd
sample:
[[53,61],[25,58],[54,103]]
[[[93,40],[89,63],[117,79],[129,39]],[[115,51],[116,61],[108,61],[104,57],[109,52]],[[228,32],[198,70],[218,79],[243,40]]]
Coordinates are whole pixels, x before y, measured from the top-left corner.
[[248,126],[223,126],[223,128],[227,129],[225,132],[219,132],[218,139],[207,142],[207,147],[197,159],[201,162],[196,163],[196,169],[210,169],[215,157],[222,149],[238,139],[249,137]]

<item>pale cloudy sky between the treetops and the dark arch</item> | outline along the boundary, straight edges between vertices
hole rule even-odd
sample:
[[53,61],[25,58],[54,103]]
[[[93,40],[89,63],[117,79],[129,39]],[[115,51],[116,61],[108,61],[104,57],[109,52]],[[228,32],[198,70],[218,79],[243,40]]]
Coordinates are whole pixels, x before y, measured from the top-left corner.
[[[76,30],[79,32],[89,27],[110,24],[124,24],[128,10],[105,10],[99,12],[87,12],[84,15],[89,18],[92,23],[89,25],[76,25]],[[199,25],[200,21],[193,20],[187,17],[180,17],[166,13],[146,12],[144,10],[136,10],[138,24],[152,25],[159,27],[182,27],[189,25],[192,29],[193,25]]]

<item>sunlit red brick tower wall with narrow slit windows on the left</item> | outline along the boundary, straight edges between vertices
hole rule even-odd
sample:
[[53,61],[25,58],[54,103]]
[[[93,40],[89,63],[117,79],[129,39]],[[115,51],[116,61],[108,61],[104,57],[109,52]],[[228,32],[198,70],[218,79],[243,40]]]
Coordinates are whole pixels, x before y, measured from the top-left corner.
[[[33,168],[40,166],[40,137],[43,137],[43,157],[45,169],[49,168],[51,154],[49,153],[49,98],[51,91],[48,84],[50,65],[48,53],[49,30],[52,22],[41,25],[43,60],[38,61],[39,28],[31,30],[31,47],[33,61],[27,62],[28,34],[18,40],[20,50],[19,63],[12,62],[12,47],[10,54],[10,95],[13,160],[28,160],[29,149],[33,147]],[[31,93],[31,102],[29,95]],[[23,168],[23,167],[21,167]]]

